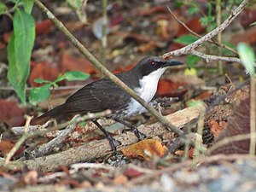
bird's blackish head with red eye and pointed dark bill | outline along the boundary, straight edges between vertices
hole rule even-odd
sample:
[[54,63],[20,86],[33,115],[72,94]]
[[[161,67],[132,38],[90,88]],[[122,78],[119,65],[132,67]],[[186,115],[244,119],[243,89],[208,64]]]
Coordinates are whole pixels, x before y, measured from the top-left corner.
[[167,67],[182,65],[183,62],[177,60],[163,60],[158,56],[148,56],[143,58],[137,63],[132,71],[137,73],[139,77],[145,77],[148,75],[160,76],[166,71]]

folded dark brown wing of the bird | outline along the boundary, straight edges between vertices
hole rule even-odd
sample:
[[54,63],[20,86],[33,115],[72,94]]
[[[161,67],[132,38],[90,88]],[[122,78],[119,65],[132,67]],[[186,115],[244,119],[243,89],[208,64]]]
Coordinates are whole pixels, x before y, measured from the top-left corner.
[[105,109],[119,108],[129,102],[128,96],[109,79],[101,79],[85,85],[67,98],[66,113],[95,113]]

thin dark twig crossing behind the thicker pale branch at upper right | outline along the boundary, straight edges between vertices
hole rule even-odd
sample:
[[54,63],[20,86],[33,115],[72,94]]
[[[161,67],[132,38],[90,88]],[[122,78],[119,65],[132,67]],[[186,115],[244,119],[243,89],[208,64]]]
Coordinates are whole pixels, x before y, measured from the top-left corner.
[[[192,31],[192,30],[189,28],[189,26],[187,26],[182,20],[179,20],[179,19],[177,18],[177,16],[174,15],[174,13],[172,12],[172,9],[171,9],[168,5],[166,5],[166,7],[167,7],[167,9],[169,10],[169,12],[170,12],[170,14],[172,15],[172,17],[173,17],[175,20],[177,20],[177,22],[178,22],[179,24],[181,24],[185,29],[187,29],[188,32],[190,32],[192,35],[195,35],[195,37],[197,37],[197,38],[201,38],[201,35],[200,35],[200,34],[198,34],[198,33],[194,32],[194,31]],[[228,49],[228,50],[230,50],[231,52],[233,52],[234,54],[238,55],[238,53],[237,53],[237,51],[236,51],[235,49],[232,49],[232,48],[230,48],[229,46],[227,46],[227,45],[225,45],[225,44],[220,44],[220,43],[214,41],[213,39],[208,39],[207,42],[209,42],[209,43],[211,43],[211,44],[216,44],[216,45],[218,45],[219,47]]]

